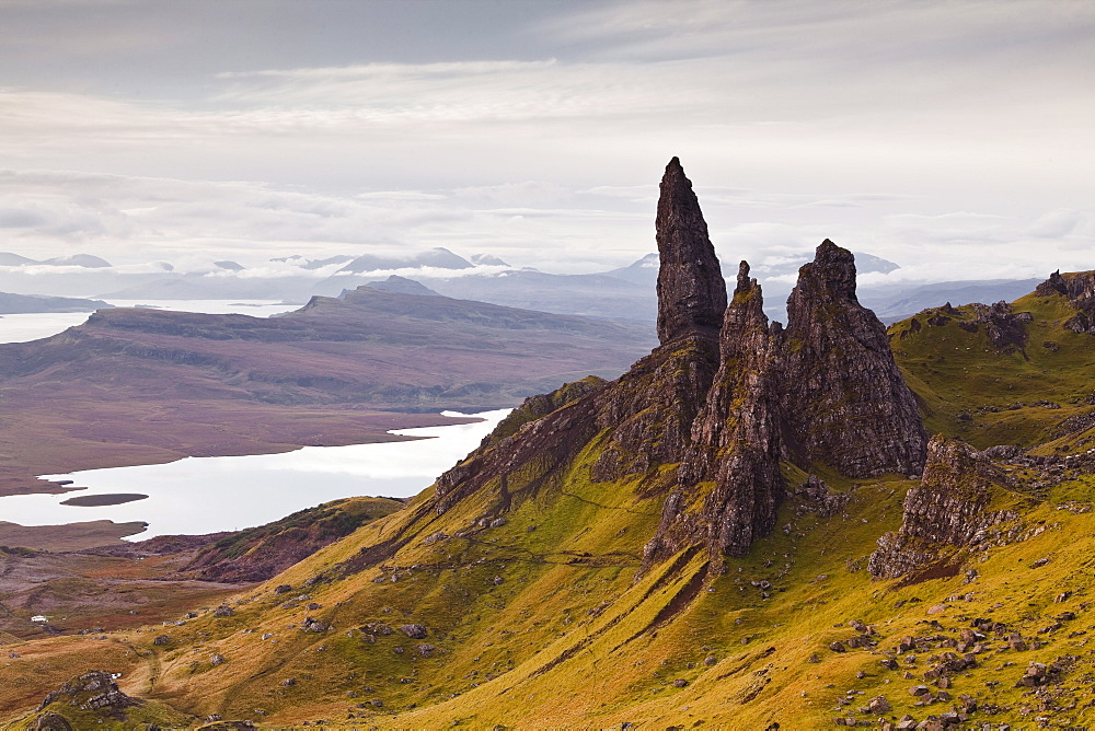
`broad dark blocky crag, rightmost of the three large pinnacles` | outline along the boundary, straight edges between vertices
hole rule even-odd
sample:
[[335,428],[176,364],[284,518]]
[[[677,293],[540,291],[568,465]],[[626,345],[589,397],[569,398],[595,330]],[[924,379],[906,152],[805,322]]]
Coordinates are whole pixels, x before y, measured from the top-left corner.
[[919,475],[927,441],[883,324],[855,297],[852,253],[828,239],[787,300],[784,438],[850,477]]

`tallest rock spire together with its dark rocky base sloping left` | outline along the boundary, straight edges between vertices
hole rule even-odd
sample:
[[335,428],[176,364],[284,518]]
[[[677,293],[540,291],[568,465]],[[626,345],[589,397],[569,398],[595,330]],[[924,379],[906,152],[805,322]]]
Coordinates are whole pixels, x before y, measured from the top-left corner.
[[[602,432],[606,442],[590,471],[593,480],[620,479],[680,461],[718,368],[718,323],[726,309],[726,283],[692,184],[676,158],[661,181],[656,229],[662,260],[658,279],[661,346],[620,379],[521,426],[511,437],[495,440],[493,449],[477,450],[446,473],[437,485],[439,511],[515,471],[533,475],[534,488],[527,490],[508,478],[499,481],[507,490],[499,509],[510,503],[511,489],[534,494],[557,478]],[[553,394],[545,403],[557,401]]]

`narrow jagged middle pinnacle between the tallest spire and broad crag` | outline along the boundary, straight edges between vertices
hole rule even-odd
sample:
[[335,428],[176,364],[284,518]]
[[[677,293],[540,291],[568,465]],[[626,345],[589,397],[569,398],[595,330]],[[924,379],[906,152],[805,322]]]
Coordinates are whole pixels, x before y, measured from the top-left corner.
[[[783,497],[777,408],[779,338],[769,328],[761,288],[738,269],[719,338],[719,368],[692,426],[679,487],[666,500],[647,560],[703,541],[715,559],[740,556],[775,525]],[[701,483],[714,480],[703,490]],[[699,510],[692,507],[702,498]]]

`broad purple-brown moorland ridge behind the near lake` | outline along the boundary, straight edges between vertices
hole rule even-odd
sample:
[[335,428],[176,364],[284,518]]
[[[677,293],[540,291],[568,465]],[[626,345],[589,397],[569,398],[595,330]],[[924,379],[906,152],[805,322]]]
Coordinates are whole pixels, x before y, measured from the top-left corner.
[[615,375],[652,340],[639,325],[368,287],[272,318],[102,310],[0,346],[12,455],[0,489],[42,489],[34,475],[76,468],[389,440],[449,422],[441,409]]

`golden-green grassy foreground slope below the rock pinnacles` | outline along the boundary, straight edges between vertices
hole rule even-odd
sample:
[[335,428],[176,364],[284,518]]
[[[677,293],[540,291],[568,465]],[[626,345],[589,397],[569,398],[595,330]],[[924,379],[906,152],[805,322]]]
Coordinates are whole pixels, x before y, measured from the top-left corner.
[[[177,627],[12,646],[21,657],[4,669],[13,682],[0,706],[36,701],[27,688],[47,677],[59,685],[77,668],[107,668],[123,673],[127,693],[194,718],[275,727],[322,719],[347,727],[829,728],[838,716],[922,719],[927,711],[909,688],[924,683],[932,655],[953,651],[942,642],[984,617],[1030,647],[1011,650],[991,636],[977,666],[947,692],[975,698],[983,720],[1033,719],[1049,700],[1013,685],[1030,661],[1058,663],[1062,682],[1047,686],[1051,703],[1077,706],[1054,718],[1084,718],[1080,706],[1095,699],[1083,680],[1095,671],[1085,648],[1095,630],[1086,603],[1095,518],[1042,503],[1024,514],[1023,539],[971,555],[957,576],[873,582],[866,556],[899,524],[910,484],[844,484],[851,499],[832,518],[799,515],[808,506],[792,500],[781,513],[789,532],[730,559],[729,573],[710,583],[704,556],[692,552],[636,580],[658,512],[637,495],[638,480],[595,486],[572,475],[565,492],[526,502],[493,529],[470,527],[472,506],[443,520],[419,517],[431,533],[382,566],[338,568],[413,520],[413,511],[396,513],[240,596],[231,616],[194,607],[199,616]],[[437,531],[452,537],[430,539]],[[1037,566],[1041,558],[1049,561]],[[977,578],[966,583],[970,570]],[[753,585],[761,581],[772,587]],[[276,594],[283,583],[292,590]],[[1075,618],[1058,623],[1065,612]],[[327,628],[303,630],[308,617]],[[856,619],[874,625],[877,646],[831,650],[860,635],[849,626]],[[423,625],[425,638],[400,631],[408,624]],[[168,645],[153,643],[160,634]],[[926,647],[885,669],[885,653],[907,636]],[[226,662],[214,665],[214,654]],[[878,695],[891,711],[856,712]]]

